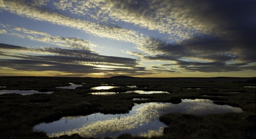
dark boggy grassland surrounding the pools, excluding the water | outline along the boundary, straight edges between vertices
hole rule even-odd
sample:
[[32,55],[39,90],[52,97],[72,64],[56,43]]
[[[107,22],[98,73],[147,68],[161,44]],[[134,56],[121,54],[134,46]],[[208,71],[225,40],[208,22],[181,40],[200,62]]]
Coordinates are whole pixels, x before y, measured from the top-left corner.
[[[68,82],[85,83],[75,90],[58,89]],[[158,90],[171,94],[116,94],[94,96],[94,86],[108,84],[124,86],[108,92],[128,90]],[[127,88],[136,85],[138,88]],[[207,98],[215,104],[242,108],[243,113],[193,116],[170,113],[160,117],[168,125],[161,137],[152,138],[255,138],[255,78],[69,78],[69,77],[0,77],[0,90],[53,91],[52,94],[0,95],[0,138],[49,138],[46,133],[33,131],[41,122],[53,122],[64,116],[81,116],[101,112],[128,113],[136,102],[172,102],[182,98]],[[190,89],[187,89],[190,88]],[[200,89],[196,89],[200,88]],[[238,92],[238,93],[231,93]],[[207,96],[204,96],[207,95]],[[151,98],[133,101],[133,98]],[[59,138],[84,138],[78,134]],[[108,137],[105,137],[108,138]],[[122,134],[117,138],[145,138]]]

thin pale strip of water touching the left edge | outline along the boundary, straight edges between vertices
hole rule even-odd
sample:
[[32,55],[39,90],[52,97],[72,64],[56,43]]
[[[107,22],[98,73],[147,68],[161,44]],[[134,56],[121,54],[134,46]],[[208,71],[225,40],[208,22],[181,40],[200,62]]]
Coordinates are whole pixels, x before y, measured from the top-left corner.
[[53,92],[38,92],[36,90],[0,90],[0,94],[22,94],[22,95],[29,95],[29,94],[51,94]]

